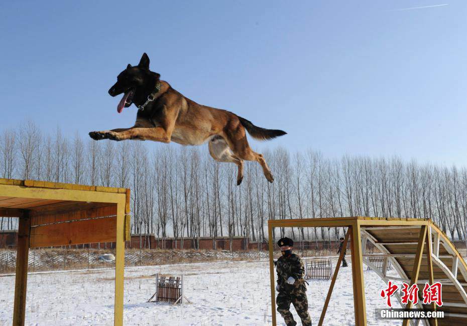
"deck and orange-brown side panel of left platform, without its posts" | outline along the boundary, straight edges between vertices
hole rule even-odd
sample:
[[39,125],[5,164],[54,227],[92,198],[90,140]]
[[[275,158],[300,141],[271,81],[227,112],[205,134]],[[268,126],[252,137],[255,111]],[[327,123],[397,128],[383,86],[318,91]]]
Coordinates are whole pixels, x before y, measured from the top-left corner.
[[29,217],[31,247],[113,242],[118,202],[130,238],[130,189],[0,179],[0,216]]

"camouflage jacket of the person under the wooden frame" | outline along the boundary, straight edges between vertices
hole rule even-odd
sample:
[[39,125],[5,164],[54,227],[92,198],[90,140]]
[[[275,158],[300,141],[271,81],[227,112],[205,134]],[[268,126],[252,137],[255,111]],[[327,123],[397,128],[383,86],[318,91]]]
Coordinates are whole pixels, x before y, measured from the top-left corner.
[[[306,286],[304,284],[305,266],[299,256],[292,253],[287,257],[279,257],[279,259],[277,259],[276,271],[279,292],[306,291]],[[295,278],[294,284],[287,283],[287,279],[290,276]]]

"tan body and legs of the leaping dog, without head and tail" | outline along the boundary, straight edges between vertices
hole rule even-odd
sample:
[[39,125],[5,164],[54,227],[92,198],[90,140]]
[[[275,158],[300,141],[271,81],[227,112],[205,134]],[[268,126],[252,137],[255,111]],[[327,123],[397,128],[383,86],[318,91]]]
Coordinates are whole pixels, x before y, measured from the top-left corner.
[[[238,166],[237,184],[243,179],[243,160],[257,161],[269,182],[273,175],[263,155],[254,152],[239,117],[231,112],[200,105],[161,81],[161,90],[150,109],[138,111],[131,128],[90,133],[93,139],[171,141],[201,145],[209,141],[209,154],[219,162]],[[99,138],[100,137],[100,138]]]

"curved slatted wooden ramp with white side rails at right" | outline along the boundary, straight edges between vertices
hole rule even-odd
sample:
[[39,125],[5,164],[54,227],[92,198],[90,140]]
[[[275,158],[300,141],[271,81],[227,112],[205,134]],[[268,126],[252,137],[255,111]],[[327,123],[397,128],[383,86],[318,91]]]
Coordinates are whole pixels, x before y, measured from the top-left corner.
[[[424,235],[423,254],[420,261],[418,280],[416,280],[420,289],[417,308],[432,307],[423,304],[422,289],[425,283],[431,284],[438,281],[442,284],[443,305],[436,307],[436,309],[449,311],[449,318],[440,318],[437,320],[437,324],[466,325],[467,266],[451,241],[433,222],[429,221],[426,226],[362,226],[362,249],[365,250],[366,241],[370,241],[382,252],[380,254],[366,254],[363,252],[363,260],[385,282],[392,280],[396,284],[403,281],[410,283],[416,274],[418,265],[417,249],[419,248],[420,239],[423,237],[424,229],[427,232]],[[390,262],[394,266],[399,276],[387,276],[384,268],[378,268],[370,262],[370,257],[383,257],[384,261]],[[431,261],[429,257],[431,257]],[[400,297],[397,297],[397,299],[401,303]],[[405,307],[405,305],[402,306]],[[426,325],[435,324],[434,320],[422,322]]]

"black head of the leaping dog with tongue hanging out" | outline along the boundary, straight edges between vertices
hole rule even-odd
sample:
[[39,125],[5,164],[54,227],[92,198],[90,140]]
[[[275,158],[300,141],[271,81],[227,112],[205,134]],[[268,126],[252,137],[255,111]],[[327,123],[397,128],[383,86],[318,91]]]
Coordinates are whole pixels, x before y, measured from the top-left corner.
[[117,96],[124,93],[117,106],[117,112],[128,108],[132,103],[144,103],[146,97],[154,90],[161,75],[149,70],[149,57],[146,53],[141,57],[138,66],[128,64],[127,69],[117,76],[117,82],[110,87],[108,94]]

